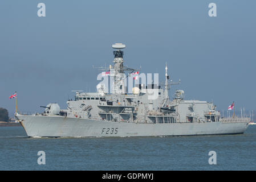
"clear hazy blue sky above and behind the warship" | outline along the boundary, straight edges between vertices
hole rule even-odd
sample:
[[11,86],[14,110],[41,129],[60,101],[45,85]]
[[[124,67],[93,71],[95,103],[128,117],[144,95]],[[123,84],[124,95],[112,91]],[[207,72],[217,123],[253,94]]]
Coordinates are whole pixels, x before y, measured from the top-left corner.
[[[37,16],[45,3],[46,17]],[[217,5],[217,17],[208,5]],[[256,1],[7,1],[0,2],[0,107],[14,113],[66,107],[71,90],[96,90],[95,66],[112,64],[121,42],[125,65],[160,73],[165,62],[173,86],[186,99],[235,101],[254,109]]]

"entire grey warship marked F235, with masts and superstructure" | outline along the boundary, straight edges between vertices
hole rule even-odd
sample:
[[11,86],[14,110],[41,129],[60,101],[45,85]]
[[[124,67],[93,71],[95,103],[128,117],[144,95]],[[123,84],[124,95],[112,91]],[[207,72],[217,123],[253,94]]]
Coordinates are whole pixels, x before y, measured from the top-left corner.
[[247,129],[250,118],[223,118],[212,102],[185,100],[183,90],[176,90],[169,98],[170,85],[178,83],[170,81],[167,65],[163,88],[156,82],[137,82],[129,93],[124,73],[139,74],[124,66],[124,44],[113,44],[112,48],[114,64],[104,72],[112,78],[112,92],[101,83],[95,93],[76,91],[75,99],[67,101],[67,109],[52,103],[41,114],[15,113],[28,137],[223,135],[242,134]]

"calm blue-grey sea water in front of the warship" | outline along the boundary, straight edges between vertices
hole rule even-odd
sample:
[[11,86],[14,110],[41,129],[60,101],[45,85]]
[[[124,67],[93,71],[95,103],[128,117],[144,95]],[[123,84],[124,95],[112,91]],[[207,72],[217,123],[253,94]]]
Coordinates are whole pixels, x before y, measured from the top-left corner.
[[22,127],[0,127],[0,170],[256,170],[256,126],[239,135],[131,138],[27,138]]

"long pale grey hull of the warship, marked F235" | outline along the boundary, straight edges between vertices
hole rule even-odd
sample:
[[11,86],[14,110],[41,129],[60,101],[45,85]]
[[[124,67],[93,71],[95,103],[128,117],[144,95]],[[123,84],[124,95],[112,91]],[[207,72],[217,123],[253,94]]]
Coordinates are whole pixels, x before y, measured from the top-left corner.
[[149,137],[242,134],[247,122],[125,123],[40,115],[15,116],[28,137]]

